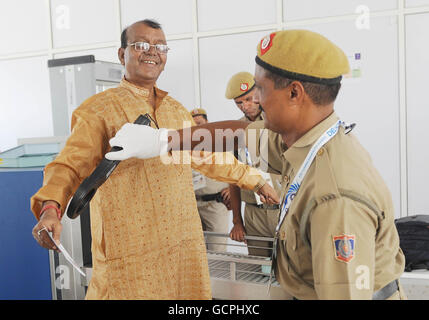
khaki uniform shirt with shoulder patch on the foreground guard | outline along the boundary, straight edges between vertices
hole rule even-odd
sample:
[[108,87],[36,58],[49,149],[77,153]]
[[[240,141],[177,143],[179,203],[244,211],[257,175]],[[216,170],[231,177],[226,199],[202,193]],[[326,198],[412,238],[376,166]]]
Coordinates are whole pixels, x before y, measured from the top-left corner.
[[[268,169],[283,176],[281,203],[312,145],[337,120],[333,113],[287,150],[268,134]],[[404,270],[391,194],[342,127],[317,153],[279,231],[276,278],[298,299],[372,299]]]

